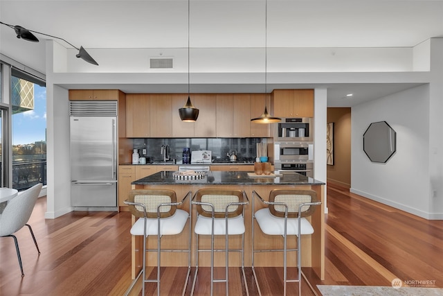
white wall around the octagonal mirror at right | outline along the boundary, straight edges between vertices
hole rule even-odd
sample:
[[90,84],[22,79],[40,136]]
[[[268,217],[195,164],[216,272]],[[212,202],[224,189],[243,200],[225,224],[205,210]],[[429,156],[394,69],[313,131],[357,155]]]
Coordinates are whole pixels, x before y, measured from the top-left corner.
[[[428,85],[352,107],[350,190],[429,218],[428,118]],[[363,134],[377,121],[397,132],[397,152],[385,164],[370,162],[363,152]]]

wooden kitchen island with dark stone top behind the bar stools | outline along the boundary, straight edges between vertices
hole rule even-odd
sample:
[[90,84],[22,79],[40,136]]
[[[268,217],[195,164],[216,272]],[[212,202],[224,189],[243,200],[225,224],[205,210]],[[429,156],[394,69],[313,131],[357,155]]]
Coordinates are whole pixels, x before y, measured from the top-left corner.
[[[316,191],[318,200],[323,203],[321,206],[317,207],[314,214],[308,218],[314,227],[314,234],[310,236],[302,236],[302,266],[313,268],[314,272],[318,275],[319,279],[325,278],[325,218],[324,218],[324,182],[314,180],[310,177],[295,174],[285,174],[273,177],[255,177],[251,176],[252,173],[248,172],[227,172],[227,171],[210,171],[207,172],[204,177],[197,180],[179,180],[174,177],[174,172],[172,171],[162,171],[143,177],[139,180],[132,182],[132,189],[172,189],[177,193],[177,200],[181,200],[186,193],[192,191],[192,195],[199,189],[237,189],[245,191],[249,204],[246,206],[244,223],[246,226],[245,232],[245,266],[251,266],[251,225],[252,225],[252,212],[257,211],[264,207],[261,202],[254,200],[254,207],[252,208],[252,191],[256,191],[264,200],[268,200],[269,192],[272,189],[311,189]],[[189,200],[183,204],[183,209],[189,211],[190,203]],[[193,233],[193,226],[196,220],[197,214],[195,209],[192,209],[192,243],[191,248],[195,251],[195,234]],[[135,221],[134,216],[132,217],[133,223]],[[255,227],[255,245],[256,247],[266,247],[278,246],[282,240],[276,238],[275,236],[266,236],[262,234],[259,227]],[[188,242],[188,228],[183,230],[183,233],[179,236],[163,237],[162,244],[163,247],[173,247],[181,243]],[[156,247],[156,240],[151,240],[148,244],[150,248]],[[230,238],[230,244],[232,243],[234,247],[240,245],[241,239]],[[142,247],[142,239],[138,236],[132,236],[132,277],[135,278],[138,271],[141,269],[142,265],[142,254],[140,250]],[[224,236],[216,237],[216,244],[224,245]],[[289,238],[288,247],[295,247],[295,238]],[[152,243],[152,245],[151,245]],[[201,238],[201,245],[210,244],[210,238]],[[195,252],[192,252],[192,265],[195,265]],[[154,252],[150,252],[154,253]],[[296,253],[288,254],[288,262],[296,262]],[[205,254],[204,254],[205,255]],[[210,265],[209,256],[200,255],[199,265],[208,266]],[[215,266],[224,265],[224,253],[219,252],[215,256]],[[187,266],[188,262],[185,254],[168,253],[168,256],[163,256],[162,265],[164,266]],[[282,266],[282,253],[273,252],[267,254],[256,254],[255,255],[255,266]],[[156,265],[156,254],[149,254],[147,256],[147,265]],[[241,266],[241,257],[239,254],[230,254],[229,256],[230,266]]]

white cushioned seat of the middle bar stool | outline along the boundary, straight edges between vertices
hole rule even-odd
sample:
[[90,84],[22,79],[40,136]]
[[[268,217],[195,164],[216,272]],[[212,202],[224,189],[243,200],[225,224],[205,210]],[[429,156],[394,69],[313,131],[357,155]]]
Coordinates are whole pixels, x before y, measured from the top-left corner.
[[[210,235],[212,233],[213,219],[205,216],[199,216],[197,223],[195,223],[195,233],[199,235]],[[214,235],[226,234],[226,220],[225,218],[214,219]],[[244,218],[242,215],[228,218],[228,234],[244,234]]]

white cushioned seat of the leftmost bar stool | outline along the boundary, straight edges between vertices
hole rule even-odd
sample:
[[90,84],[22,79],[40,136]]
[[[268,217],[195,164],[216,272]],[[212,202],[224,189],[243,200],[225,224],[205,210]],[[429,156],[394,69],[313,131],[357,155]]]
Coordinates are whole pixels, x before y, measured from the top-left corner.
[[[177,209],[173,216],[161,218],[160,235],[180,234],[188,220],[188,212]],[[131,234],[134,236],[143,236],[143,223],[146,221],[146,236],[156,236],[158,232],[158,223],[156,218],[139,218],[132,225]]]

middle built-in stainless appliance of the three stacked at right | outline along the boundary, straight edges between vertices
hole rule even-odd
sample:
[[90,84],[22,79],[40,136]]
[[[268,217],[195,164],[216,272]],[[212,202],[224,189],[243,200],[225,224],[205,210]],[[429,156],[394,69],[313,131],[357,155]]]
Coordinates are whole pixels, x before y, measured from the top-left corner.
[[312,161],[314,144],[300,142],[274,143],[274,161]]

